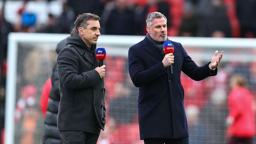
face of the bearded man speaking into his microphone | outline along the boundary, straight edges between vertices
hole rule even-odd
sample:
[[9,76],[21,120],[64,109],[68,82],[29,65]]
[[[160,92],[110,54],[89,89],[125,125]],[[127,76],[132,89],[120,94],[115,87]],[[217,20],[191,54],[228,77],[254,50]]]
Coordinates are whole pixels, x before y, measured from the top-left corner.
[[151,27],[147,26],[149,35],[157,42],[165,42],[167,38],[167,21],[164,17],[154,18]]

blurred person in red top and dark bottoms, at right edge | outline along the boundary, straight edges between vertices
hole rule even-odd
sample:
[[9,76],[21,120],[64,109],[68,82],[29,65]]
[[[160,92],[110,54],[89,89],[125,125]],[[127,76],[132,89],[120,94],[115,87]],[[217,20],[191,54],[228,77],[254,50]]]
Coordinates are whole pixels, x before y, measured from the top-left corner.
[[230,78],[231,92],[228,94],[229,115],[228,144],[252,144],[255,135],[254,100],[251,92],[244,86],[246,78],[233,75]]

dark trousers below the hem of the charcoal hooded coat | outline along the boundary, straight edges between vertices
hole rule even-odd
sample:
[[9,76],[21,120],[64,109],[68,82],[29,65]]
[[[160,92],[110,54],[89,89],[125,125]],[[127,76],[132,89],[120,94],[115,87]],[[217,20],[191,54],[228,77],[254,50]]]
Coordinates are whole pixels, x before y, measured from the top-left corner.
[[99,136],[100,132],[60,131],[63,144],[96,144]]

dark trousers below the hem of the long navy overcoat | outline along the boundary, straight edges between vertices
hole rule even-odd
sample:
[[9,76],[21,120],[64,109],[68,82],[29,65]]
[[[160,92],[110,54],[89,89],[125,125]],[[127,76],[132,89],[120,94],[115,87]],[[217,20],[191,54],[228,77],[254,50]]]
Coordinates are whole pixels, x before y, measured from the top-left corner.
[[189,144],[188,137],[181,139],[161,139],[161,138],[148,138],[144,139],[144,144]]

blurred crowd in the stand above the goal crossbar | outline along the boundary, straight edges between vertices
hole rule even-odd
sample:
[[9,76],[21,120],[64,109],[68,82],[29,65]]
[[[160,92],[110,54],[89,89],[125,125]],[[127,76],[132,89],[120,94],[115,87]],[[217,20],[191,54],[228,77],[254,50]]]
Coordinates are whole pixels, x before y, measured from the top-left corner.
[[145,35],[148,13],[158,11],[167,17],[169,36],[256,36],[254,0],[62,0],[62,13],[48,13],[44,24],[26,10],[28,2],[10,31],[69,33],[76,16],[90,12],[101,17],[101,34]]

